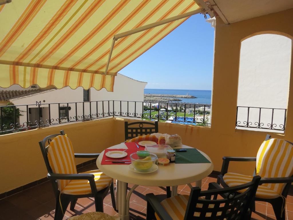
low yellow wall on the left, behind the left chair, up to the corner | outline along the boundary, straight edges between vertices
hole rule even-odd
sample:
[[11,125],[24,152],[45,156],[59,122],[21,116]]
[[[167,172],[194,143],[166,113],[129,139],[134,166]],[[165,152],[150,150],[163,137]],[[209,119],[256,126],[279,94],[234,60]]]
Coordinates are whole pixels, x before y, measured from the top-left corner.
[[[64,124],[0,136],[0,194],[47,176],[39,141],[64,129],[75,153],[99,153],[117,142],[115,119]],[[123,138],[122,138],[123,139]],[[76,159],[76,164],[88,159]]]

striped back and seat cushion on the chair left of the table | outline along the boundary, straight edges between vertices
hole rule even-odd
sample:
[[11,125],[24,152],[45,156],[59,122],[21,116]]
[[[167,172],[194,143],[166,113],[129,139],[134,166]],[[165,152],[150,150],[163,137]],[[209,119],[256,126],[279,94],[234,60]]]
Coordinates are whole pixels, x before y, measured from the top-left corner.
[[[48,160],[54,173],[77,174],[74,161],[72,143],[67,136],[55,137],[48,146]],[[91,173],[95,176],[97,190],[108,187],[113,181],[100,170],[91,170],[83,173]],[[57,180],[60,192],[65,194],[83,195],[91,193],[88,180]]]

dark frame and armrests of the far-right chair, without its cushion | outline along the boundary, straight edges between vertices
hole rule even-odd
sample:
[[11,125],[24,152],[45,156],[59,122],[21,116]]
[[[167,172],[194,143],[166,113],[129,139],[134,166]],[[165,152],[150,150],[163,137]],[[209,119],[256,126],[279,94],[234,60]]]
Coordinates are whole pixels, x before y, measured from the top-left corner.
[[[265,138],[265,141],[268,141],[271,139],[270,135],[267,135]],[[283,140],[282,140],[283,141]],[[289,144],[292,144],[289,141],[286,141]],[[292,158],[288,158],[288,160],[292,160]],[[221,184],[223,187],[229,187],[227,183],[225,182],[225,175],[229,175],[228,173],[228,167],[230,161],[257,161],[256,157],[223,157],[223,164],[222,164],[222,170],[221,174],[217,178],[217,183]],[[272,161],[271,163],[274,163],[275,161]],[[253,176],[256,175],[256,168],[254,170]],[[271,198],[262,198],[258,195],[258,192],[255,196],[255,201],[263,201],[263,202],[269,202],[272,204],[272,207],[275,212],[275,216],[277,220],[285,220],[285,205],[286,205],[286,197],[288,195],[291,183],[293,182],[293,175],[291,177],[275,177],[275,178],[262,178],[260,180],[260,185],[262,184],[279,184],[283,183],[285,184],[285,187],[283,187],[283,190],[280,195],[277,197],[271,197]],[[260,186],[262,187],[262,186]],[[259,189],[260,189],[259,187]],[[252,203],[251,209],[255,211],[255,203]]]

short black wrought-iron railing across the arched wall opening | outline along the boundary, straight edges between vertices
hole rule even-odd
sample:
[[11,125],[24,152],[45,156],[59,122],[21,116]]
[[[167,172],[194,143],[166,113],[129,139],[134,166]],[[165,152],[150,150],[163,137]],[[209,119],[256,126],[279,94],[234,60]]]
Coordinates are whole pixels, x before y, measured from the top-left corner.
[[237,106],[236,128],[285,131],[287,109]]

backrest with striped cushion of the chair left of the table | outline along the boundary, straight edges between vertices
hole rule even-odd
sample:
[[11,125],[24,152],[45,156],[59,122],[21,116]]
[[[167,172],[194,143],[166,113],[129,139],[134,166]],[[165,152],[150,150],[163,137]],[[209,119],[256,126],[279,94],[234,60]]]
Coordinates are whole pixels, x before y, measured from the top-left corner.
[[[74,161],[74,151],[70,139],[60,134],[47,136],[40,141],[40,147],[49,173],[77,174]],[[49,145],[46,146],[48,141]],[[70,180],[57,180],[58,189],[61,191]]]

